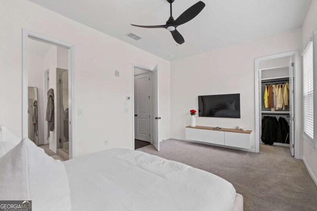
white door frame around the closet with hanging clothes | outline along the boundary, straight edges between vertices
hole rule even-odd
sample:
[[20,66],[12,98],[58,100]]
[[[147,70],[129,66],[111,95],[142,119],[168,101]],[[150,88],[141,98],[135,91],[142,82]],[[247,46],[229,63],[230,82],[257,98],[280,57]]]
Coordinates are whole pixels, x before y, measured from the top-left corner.
[[268,60],[281,58],[286,56],[292,56],[294,61],[294,157],[300,159],[300,114],[301,114],[301,62],[300,62],[300,54],[298,50],[288,51],[284,53],[277,53],[273,55],[263,56],[255,58],[255,142],[256,142],[256,152],[260,152],[260,79],[259,79],[259,62]]

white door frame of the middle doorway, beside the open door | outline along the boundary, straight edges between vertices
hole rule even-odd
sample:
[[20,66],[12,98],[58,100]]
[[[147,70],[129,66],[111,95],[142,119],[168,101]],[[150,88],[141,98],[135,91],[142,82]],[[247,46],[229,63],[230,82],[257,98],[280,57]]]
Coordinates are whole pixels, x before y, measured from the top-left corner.
[[[138,64],[132,64],[132,149],[135,150],[135,127],[134,127],[134,68],[139,68],[145,71],[148,71],[149,73],[153,74],[152,69],[148,68],[148,67],[144,67],[142,65],[138,65]],[[151,75],[151,79],[153,79],[152,75]],[[152,92],[152,81],[151,81],[151,92]],[[158,93],[159,96],[159,77],[158,77]],[[151,96],[153,96],[153,94],[151,93]],[[159,97],[158,97],[158,101],[159,101]],[[151,119],[152,117],[152,109],[153,109],[153,100],[151,99]],[[159,104],[159,102],[158,102]],[[158,108],[159,111],[159,108]],[[152,132],[152,120],[151,120],[151,135],[153,135]],[[158,134],[159,134],[159,129],[158,129]],[[152,136],[150,138],[150,143],[152,144]]]

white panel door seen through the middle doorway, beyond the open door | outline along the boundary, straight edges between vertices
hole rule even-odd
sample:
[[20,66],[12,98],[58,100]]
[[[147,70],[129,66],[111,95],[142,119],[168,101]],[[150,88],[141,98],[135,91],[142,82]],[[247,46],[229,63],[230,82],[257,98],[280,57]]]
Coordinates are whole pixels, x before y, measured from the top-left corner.
[[134,77],[135,139],[150,142],[151,86],[150,73]]

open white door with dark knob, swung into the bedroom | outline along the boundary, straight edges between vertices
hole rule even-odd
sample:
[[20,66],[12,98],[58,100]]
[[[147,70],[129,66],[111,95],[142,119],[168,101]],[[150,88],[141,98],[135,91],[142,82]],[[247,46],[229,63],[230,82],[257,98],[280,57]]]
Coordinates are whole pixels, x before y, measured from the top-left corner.
[[158,66],[153,69],[152,75],[152,144],[159,151],[159,87]]

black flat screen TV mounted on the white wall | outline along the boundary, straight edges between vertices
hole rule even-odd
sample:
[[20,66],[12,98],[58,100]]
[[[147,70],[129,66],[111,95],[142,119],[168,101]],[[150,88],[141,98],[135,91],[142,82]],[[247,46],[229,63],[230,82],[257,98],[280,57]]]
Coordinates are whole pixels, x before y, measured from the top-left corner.
[[240,94],[198,96],[199,117],[240,118]]

